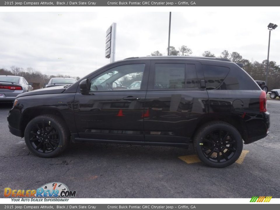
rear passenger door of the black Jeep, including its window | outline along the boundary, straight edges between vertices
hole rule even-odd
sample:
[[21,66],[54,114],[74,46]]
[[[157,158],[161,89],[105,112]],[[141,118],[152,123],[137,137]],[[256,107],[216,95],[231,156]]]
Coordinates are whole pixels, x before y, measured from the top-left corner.
[[146,141],[188,143],[197,121],[208,112],[200,62],[151,62],[144,109]]

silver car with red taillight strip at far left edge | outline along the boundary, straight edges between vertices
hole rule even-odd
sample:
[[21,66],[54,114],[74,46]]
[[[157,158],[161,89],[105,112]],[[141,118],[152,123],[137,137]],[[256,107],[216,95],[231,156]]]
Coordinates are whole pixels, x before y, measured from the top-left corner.
[[32,90],[32,83],[23,77],[0,75],[0,102],[14,101],[20,93]]

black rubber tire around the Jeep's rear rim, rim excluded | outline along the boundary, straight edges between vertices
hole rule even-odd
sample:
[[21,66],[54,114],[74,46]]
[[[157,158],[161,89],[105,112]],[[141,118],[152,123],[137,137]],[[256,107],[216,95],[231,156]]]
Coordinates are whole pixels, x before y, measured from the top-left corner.
[[[204,153],[202,152],[202,146],[200,145],[200,143],[202,143],[202,139],[209,134],[211,131],[217,130],[217,129],[223,129],[227,132],[229,132],[229,134],[234,138],[234,140],[236,141],[237,144],[237,149],[236,152],[234,153],[234,155],[227,161],[225,162],[213,162],[209,159],[206,158],[206,156],[204,155]],[[234,127],[232,127],[229,124],[224,124],[224,123],[217,123],[217,124],[212,124],[209,126],[204,127],[204,129],[202,129],[196,136],[196,141],[195,141],[195,150],[196,153],[199,157],[200,160],[202,160],[202,162],[206,163],[207,165],[211,166],[211,167],[226,167],[229,166],[230,164],[234,163],[239,156],[241,155],[242,149],[243,149],[243,140],[241,138],[240,133],[238,132],[237,129],[235,129]]]

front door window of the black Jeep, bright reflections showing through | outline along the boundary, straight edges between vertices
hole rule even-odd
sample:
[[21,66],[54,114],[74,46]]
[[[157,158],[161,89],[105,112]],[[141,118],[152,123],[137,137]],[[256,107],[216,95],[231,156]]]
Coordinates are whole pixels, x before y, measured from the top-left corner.
[[90,92],[140,90],[145,64],[127,64],[114,67],[90,80]]

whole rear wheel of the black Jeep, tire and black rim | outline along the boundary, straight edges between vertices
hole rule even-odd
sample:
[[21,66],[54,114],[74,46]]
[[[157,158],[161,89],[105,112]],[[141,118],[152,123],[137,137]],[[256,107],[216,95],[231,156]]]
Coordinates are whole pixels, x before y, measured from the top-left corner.
[[232,125],[223,121],[212,121],[197,130],[193,148],[206,165],[222,168],[239,158],[243,140],[239,131]]

